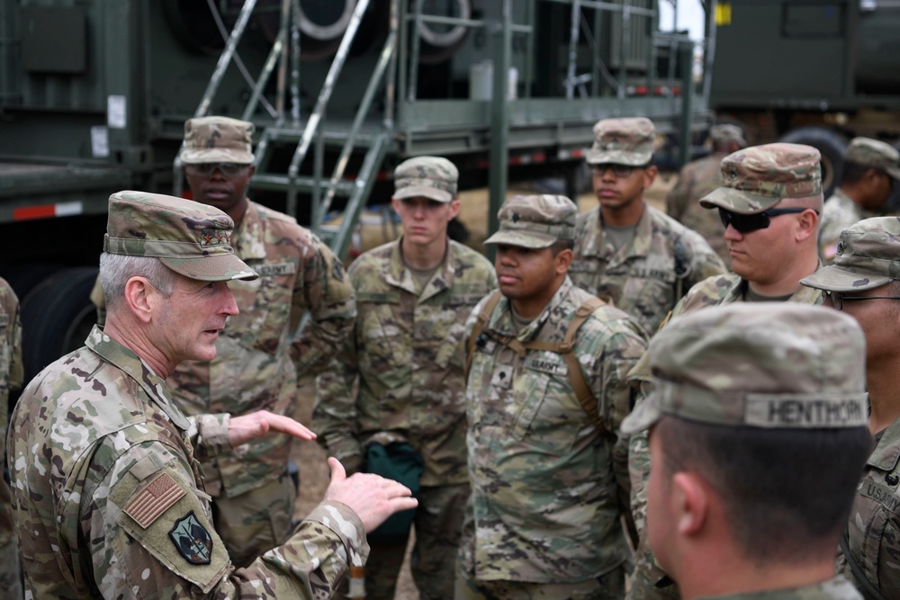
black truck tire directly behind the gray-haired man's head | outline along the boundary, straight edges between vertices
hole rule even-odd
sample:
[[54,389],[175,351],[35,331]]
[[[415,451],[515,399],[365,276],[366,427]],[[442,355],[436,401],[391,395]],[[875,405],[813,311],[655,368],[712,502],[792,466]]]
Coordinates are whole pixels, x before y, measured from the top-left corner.
[[25,381],[63,354],[84,345],[96,322],[90,293],[96,267],[61,269],[38,283],[22,300]]

